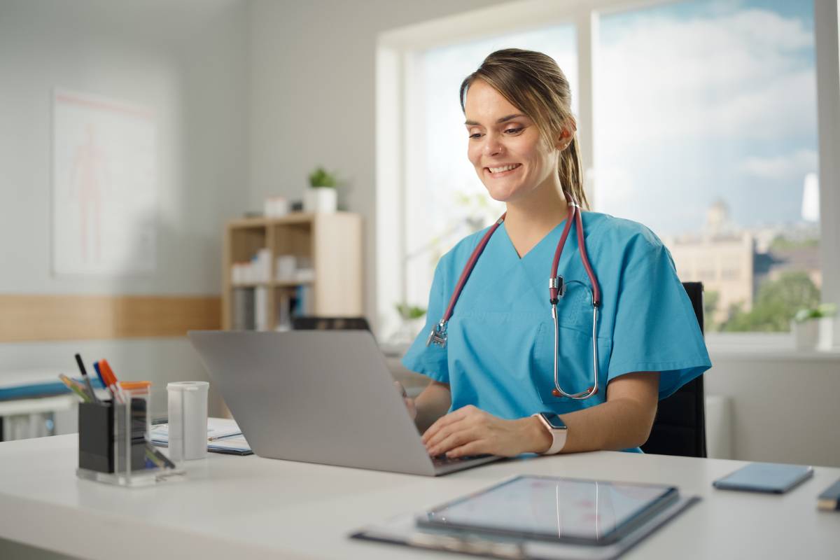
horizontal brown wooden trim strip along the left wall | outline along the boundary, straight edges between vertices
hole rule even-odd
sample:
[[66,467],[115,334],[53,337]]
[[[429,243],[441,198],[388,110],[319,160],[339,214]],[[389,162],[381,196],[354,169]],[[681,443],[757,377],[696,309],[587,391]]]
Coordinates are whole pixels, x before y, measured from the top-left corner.
[[218,296],[0,295],[0,343],[183,337],[220,324]]

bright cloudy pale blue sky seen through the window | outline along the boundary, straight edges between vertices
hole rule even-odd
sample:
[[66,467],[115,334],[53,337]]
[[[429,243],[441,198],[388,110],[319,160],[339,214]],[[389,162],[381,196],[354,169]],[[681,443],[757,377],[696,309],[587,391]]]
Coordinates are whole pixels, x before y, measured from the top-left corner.
[[[812,10],[805,1],[700,0],[602,15],[594,209],[660,236],[699,230],[718,199],[744,228],[801,222],[805,175],[817,170]],[[410,224],[409,251],[465,212],[489,217],[501,209],[489,196],[470,210],[458,202],[458,193],[485,192],[466,158],[458,89],[492,50],[511,46],[557,60],[576,113],[571,24],[425,51],[417,96],[423,192],[409,203],[423,205],[427,218]],[[463,233],[440,244],[446,249]]]

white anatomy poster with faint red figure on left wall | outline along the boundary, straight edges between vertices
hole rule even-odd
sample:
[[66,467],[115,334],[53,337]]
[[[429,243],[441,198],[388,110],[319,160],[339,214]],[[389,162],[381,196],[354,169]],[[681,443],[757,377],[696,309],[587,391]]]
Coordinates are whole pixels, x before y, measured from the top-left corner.
[[53,112],[55,274],[155,270],[158,171],[151,111],[56,90]]

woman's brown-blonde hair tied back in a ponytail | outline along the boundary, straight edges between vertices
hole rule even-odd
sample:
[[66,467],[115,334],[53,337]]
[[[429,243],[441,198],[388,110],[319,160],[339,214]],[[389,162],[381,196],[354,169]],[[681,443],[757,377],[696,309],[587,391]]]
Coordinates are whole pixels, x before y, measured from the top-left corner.
[[[483,80],[537,124],[549,146],[564,129],[575,124],[571,111],[572,93],[563,71],[549,55],[533,50],[503,49],[488,55],[479,69],[461,82],[461,110],[465,111],[467,89]],[[569,146],[560,152],[557,174],[567,201],[589,209],[583,190],[580,147],[574,127]]]

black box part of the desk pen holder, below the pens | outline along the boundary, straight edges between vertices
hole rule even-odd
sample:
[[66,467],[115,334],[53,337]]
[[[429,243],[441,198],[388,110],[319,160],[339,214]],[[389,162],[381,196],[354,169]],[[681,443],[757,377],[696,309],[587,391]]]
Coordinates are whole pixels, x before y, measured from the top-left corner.
[[[124,434],[119,420],[124,417],[125,405],[113,400],[79,403],[79,468],[100,473],[124,470],[123,457],[114,453],[115,429],[118,436]],[[131,400],[131,470],[145,468],[145,419],[145,400]]]

